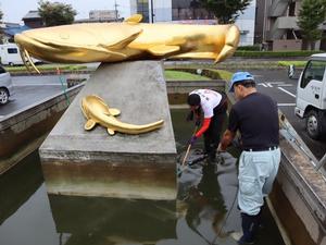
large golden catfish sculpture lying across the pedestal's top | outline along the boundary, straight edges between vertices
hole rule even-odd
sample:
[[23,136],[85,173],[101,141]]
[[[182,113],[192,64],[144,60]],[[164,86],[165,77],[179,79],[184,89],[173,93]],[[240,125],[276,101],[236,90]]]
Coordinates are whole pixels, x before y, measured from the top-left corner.
[[[49,62],[118,62],[140,59],[214,59],[233,56],[239,42],[236,25],[87,23],[25,30],[14,36],[22,59]],[[34,69],[36,69],[34,66]]]

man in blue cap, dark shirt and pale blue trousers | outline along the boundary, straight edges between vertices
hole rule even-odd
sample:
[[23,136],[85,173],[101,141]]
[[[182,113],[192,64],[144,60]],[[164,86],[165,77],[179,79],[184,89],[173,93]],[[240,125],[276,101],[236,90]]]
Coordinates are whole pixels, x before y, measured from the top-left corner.
[[248,72],[233,75],[230,91],[238,101],[230,110],[228,127],[217,150],[226,150],[239,131],[242,152],[238,206],[243,235],[238,243],[252,244],[264,197],[272,191],[280,161],[278,109],[271,97],[256,91],[254,78]]

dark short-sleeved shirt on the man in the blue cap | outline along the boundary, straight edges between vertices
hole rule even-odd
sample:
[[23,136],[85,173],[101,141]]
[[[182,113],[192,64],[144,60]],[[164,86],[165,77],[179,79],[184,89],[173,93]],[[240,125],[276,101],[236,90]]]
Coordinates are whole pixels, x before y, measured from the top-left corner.
[[233,106],[228,130],[239,130],[243,149],[278,146],[277,103],[260,93],[246,96]]

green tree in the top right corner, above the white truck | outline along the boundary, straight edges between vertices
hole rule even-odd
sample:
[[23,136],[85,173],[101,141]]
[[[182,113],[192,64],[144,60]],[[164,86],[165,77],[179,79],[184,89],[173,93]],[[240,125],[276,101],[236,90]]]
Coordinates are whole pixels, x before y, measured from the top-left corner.
[[326,17],[326,0],[303,0],[298,15],[298,26],[302,30],[302,37],[308,41],[312,50],[316,40],[323,36],[319,25]]

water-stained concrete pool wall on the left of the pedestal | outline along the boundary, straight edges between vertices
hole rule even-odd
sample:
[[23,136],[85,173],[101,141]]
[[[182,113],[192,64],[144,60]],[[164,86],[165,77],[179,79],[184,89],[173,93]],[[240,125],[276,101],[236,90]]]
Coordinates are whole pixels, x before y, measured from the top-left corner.
[[[73,99],[84,84],[67,89]],[[67,108],[63,94],[24,108],[0,121],[0,174],[39,147],[45,136]]]

